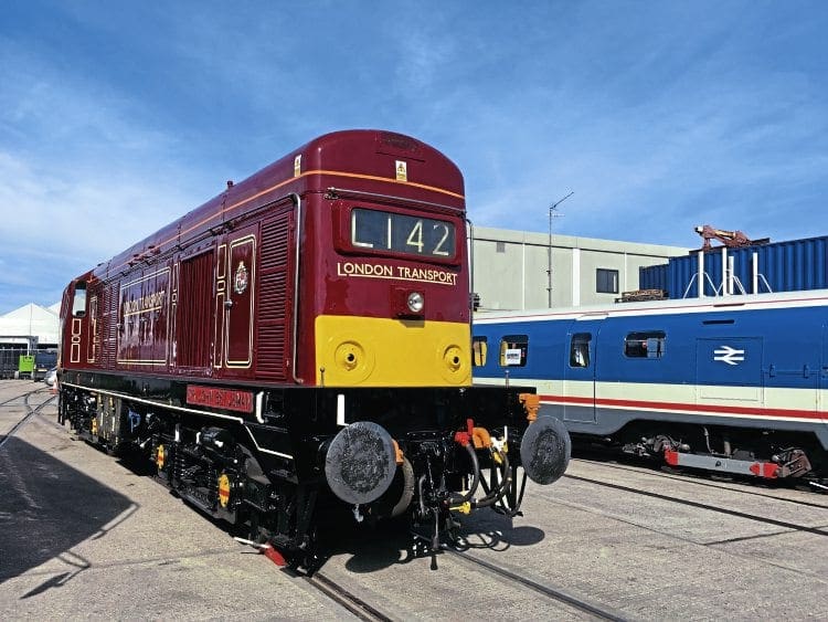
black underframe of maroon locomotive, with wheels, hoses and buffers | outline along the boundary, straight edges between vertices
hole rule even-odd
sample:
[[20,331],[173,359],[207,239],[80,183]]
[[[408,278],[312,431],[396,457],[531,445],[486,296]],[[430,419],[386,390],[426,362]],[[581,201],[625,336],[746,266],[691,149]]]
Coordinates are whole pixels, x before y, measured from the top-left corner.
[[[64,390],[70,394],[66,384]],[[548,418],[526,433],[528,411],[517,389],[262,393],[265,423],[256,415],[197,411],[187,405],[187,389],[174,384],[167,399],[152,404],[109,392],[81,397],[83,390],[73,389],[75,399],[64,400],[62,412],[87,441],[141,456],[160,483],[201,512],[235,525],[245,538],[267,539],[294,555],[312,539],[315,509],[337,499],[353,508],[358,521],[408,513],[412,525],[426,525],[429,533],[440,525],[442,531],[443,524],[454,525],[453,513],[489,506],[517,512],[517,465],[529,465],[532,479],[549,483],[534,464],[551,460],[556,478],[569,461],[563,445],[527,453],[523,437],[545,434]],[[73,410],[71,403],[79,407]],[[128,435],[99,431],[98,422],[113,425],[115,413],[120,425],[130,425]],[[468,413],[478,419],[464,419]],[[485,493],[476,495],[478,487]],[[300,563],[311,561],[300,556]]]

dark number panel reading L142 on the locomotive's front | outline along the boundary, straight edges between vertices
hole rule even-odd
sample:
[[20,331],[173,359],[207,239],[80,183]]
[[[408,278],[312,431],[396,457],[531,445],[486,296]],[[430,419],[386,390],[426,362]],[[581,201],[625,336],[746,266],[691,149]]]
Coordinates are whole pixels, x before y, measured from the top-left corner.
[[359,251],[454,260],[456,231],[454,223],[445,220],[353,208],[350,244]]

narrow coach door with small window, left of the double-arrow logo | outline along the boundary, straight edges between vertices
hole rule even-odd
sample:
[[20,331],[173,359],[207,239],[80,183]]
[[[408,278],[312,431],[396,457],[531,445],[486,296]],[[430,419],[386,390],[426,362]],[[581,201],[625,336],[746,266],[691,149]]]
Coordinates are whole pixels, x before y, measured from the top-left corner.
[[566,336],[563,419],[595,423],[595,352],[597,326],[573,324]]

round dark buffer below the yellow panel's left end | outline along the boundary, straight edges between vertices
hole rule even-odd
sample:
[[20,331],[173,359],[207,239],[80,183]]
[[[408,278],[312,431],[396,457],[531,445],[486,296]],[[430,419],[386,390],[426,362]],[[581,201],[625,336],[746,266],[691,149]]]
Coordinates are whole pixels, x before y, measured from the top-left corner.
[[351,423],[333,437],[325,457],[325,476],[333,494],[349,504],[378,499],[396,472],[396,451],[384,428]]

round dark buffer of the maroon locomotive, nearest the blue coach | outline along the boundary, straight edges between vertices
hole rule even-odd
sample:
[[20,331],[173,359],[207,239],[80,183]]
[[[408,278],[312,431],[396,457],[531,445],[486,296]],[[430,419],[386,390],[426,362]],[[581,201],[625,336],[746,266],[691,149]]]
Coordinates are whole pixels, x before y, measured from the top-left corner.
[[539,417],[523,433],[520,461],[532,482],[551,484],[570,464],[572,440],[560,419]]

